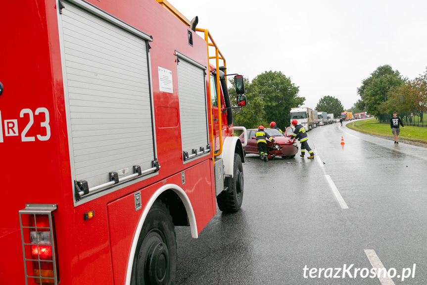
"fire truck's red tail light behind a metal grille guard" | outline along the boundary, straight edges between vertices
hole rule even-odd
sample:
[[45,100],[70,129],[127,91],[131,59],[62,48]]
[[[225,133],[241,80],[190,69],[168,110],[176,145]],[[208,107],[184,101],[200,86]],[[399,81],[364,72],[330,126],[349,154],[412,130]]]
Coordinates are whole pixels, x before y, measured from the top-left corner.
[[[19,211],[22,250],[27,284],[56,285],[59,282],[53,204],[27,204]],[[28,216],[25,219],[25,216]],[[23,224],[28,221],[28,224]]]

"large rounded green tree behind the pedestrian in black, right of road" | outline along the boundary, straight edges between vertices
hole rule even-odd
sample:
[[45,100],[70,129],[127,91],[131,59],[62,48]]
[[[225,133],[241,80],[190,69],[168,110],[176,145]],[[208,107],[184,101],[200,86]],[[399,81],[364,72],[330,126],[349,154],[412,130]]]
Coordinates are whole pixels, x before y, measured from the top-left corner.
[[380,105],[387,101],[390,89],[405,84],[405,81],[406,78],[402,78],[398,70],[393,70],[386,64],[379,66],[370,77],[364,79],[357,92],[366,105],[366,111],[380,115]]

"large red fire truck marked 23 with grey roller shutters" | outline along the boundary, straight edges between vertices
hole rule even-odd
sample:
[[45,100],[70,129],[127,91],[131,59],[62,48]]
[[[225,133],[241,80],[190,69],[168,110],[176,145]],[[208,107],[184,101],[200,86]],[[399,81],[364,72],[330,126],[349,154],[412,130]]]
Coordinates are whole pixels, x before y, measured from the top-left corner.
[[210,33],[158,1],[1,1],[0,284],[173,284],[174,227],[239,210],[243,77],[233,107]]

